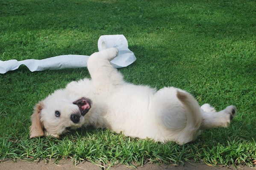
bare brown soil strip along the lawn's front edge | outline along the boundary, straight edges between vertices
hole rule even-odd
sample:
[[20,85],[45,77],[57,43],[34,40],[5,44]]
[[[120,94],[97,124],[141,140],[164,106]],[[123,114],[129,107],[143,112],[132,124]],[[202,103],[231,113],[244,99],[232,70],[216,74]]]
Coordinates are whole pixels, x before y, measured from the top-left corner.
[[[81,163],[74,165],[73,162],[68,160],[60,161],[58,164],[45,163],[44,161],[22,161],[16,162],[12,160],[5,160],[0,163],[0,170],[105,170],[96,164],[89,161],[82,161]],[[235,167],[211,167],[206,164],[189,164],[179,166],[165,164],[145,164],[143,167],[137,167],[137,170],[253,170],[252,167],[239,166]],[[109,170],[136,170],[133,167],[127,167],[126,165],[116,165],[109,168]]]

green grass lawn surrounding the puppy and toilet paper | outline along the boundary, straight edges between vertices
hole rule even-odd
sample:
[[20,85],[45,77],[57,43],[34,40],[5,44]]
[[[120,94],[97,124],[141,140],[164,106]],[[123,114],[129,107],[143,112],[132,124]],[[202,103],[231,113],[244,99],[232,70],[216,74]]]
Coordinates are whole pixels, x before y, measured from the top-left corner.
[[0,75],[0,160],[85,159],[104,166],[147,162],[253,166],[256,160],[256,2],[254,0],[5,0],[0,2],[0,60],[90,55],[104,34],[124,34],[137,60],[127,81],[176,86],[200,105],[236,105],[227,129],[204,130],[179,146],[82,128],[62,140],[29,139],[34,105],[86,68]]

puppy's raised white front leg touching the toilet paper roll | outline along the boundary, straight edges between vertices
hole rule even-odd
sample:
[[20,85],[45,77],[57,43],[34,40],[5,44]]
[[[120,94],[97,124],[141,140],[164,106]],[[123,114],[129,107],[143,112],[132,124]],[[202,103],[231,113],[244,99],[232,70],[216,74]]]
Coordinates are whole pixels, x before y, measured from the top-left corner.
[[121,73],[110,63],[117,55],[117,48],[107,48],[91,54],[87,61],[87,68],[95,85],[108,87],[124,82]]

